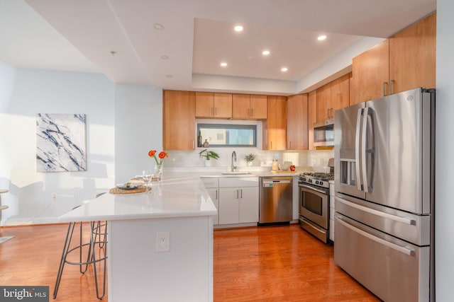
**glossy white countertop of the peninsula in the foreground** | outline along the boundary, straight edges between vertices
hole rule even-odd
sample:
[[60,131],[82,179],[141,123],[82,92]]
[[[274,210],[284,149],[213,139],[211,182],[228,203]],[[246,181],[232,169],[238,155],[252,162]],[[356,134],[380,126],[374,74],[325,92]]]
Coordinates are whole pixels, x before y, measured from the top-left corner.
[[[170,176],[170,175],[169,175]],[[106,193],[59,217],[59,221],[98,221],[211,216],[217,210],[199,175],[165,178],[150,193]]]

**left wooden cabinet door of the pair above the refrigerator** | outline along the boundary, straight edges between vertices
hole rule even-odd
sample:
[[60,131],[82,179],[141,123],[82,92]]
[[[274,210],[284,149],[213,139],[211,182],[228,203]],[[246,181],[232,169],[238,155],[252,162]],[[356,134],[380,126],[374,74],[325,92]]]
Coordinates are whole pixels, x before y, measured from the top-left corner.
[[352,102],[380,98],[389,90],[389,40],[384,40],[370,50],[353,58]]

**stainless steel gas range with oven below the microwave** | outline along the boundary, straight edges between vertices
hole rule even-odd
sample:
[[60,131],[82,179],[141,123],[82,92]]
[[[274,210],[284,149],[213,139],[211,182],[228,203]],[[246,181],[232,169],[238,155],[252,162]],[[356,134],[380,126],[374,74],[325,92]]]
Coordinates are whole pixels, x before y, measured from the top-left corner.
[[329,240],[329,180],[333,173],[299,175],[299,226],[324,243]]

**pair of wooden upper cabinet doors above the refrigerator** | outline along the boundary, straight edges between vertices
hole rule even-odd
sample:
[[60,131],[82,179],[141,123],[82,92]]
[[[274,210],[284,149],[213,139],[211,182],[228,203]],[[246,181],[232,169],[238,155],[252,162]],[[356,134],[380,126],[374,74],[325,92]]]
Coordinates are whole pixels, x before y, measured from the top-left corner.
[[360,103],[436,86],[436,13],[353,58],[352,98]]

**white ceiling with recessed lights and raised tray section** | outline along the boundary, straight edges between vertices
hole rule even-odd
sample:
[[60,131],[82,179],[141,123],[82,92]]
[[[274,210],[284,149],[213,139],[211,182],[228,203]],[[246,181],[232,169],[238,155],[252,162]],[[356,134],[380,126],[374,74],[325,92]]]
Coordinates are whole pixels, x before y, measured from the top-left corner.
[[284,84],[276,92],[292,94],[355,43],[435,10],[436,0],[0,0],[0,62],[165,89]]

